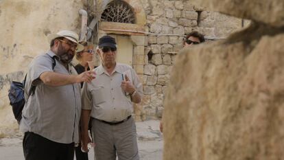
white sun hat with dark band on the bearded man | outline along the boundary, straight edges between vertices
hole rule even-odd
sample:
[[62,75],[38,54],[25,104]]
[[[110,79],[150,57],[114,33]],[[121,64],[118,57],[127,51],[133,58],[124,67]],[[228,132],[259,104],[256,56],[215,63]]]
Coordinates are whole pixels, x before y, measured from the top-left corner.
[[61,30],[60,32],[57,32],[56,34],[49,34],[49,36],[48,36],[49,43],[52,40],[54,40],[55,38],[58,38],[58,37],[64,37],[64,38],[69,39],[73,43],[77,43],[76,52],[81,52],[82,50],[84,50],[84,46],[81,45],[80,43],[78,43],[79,42],[79,36],[75,32],[69,31],[69,30]]

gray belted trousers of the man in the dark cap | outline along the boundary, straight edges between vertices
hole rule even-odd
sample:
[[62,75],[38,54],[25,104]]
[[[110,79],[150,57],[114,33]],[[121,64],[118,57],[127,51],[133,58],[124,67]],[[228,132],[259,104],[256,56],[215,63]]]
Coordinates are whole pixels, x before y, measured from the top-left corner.
[[139,160],[134,119],[109,125],[93,119],[92,136],[96,160]]

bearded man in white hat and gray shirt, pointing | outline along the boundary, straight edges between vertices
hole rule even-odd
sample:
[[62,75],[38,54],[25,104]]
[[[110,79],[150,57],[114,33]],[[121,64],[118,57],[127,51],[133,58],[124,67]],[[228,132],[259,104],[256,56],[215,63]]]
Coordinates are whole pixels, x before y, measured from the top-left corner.
[[78,38],[69,30],[51,34],[50,50],[29,65],[20,123],[26,160],[73,160],[79,140],[80,82],[94,79],[93,71],[78,75],[70,64],[75,51],[84,49]]

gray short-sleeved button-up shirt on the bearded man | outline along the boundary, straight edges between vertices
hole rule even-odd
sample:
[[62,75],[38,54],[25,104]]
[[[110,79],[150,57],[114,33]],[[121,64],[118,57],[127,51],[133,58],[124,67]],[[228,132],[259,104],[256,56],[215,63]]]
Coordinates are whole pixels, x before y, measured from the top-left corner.
[[[67,70],[58,57],[56,66],[52,69],[52,58],[56,56],[49,51],[34,58],[29,65],[25,84],[26,104],[23,108],[23,118],[20,129],[23,132],[33,132],[51,141],[62,144],[78,142],[78,124],[81,114],[80,84],[68,84],[51,87],[44,84],[40,74],[54,71],[62,74],[77,74],[69,65]],[[34,95],[27,99],[31,84],[36,84]]]

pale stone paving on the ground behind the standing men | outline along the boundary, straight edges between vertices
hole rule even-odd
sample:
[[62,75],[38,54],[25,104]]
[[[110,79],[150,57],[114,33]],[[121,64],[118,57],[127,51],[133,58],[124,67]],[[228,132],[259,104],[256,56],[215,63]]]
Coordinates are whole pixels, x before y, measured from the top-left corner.
[[[159,121],[137,122],[137,139],[141,160],[163,159],[163,135],[159,131]],[[94,153],[89,153],[89,159]],[[21,137],[0,139],[0,160],[24,160]]]

